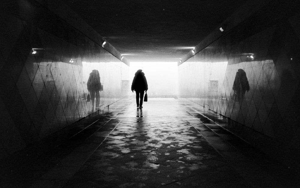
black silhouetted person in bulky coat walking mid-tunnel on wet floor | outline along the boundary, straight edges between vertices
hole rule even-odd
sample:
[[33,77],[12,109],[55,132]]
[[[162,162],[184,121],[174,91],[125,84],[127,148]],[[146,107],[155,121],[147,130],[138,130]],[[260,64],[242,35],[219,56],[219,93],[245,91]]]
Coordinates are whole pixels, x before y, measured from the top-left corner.
[[[131,85],[131,91],[135,91],[137,96],[137,108],[140,107],[143,108],[143,97],[144,97],[144,91],[148,90],[148,84],[147,80],[145,77],[145,73],[142,72],[141,69],[137,70],[137,72],[134,75],[134,79],[132,81]],[[139,98],[140,98],[140,103],[139,103]]]

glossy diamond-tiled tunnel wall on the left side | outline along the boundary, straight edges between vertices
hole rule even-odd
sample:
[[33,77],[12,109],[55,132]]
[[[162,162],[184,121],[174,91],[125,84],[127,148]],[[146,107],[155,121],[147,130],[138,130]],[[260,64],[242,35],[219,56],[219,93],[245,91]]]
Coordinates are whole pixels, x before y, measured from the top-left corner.
[[101,112],[124,97],[122,79],[129,79],[129,66],[91,39],[97,37],[37,1],[7,2],[0,18],[0,159],[90,115],[91,70],[104,85]]

